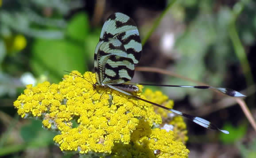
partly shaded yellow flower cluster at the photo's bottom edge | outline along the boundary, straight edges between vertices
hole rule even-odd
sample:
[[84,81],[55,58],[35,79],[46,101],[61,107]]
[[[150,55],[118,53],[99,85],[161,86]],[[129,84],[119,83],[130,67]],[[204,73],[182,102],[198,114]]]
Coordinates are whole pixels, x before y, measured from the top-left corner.
[[128,145],[117,144],[112,152],[114,158],[187,158],[189,150],[175,140],[173,131],[151,128],[140,120]]

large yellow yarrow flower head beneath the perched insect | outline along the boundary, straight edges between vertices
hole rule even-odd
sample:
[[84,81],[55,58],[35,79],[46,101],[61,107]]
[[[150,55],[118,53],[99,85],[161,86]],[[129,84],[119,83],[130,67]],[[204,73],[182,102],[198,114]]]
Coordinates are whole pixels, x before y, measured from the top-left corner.
[[[94,88],[91,72],[80,76],[73,71],[58,84],[27,85],[14,102],[18,114],[42,119],[43,127],[58,131],[54,142],[63,152],[115,158],[188,157],[189,150],[174,131],[159,129],[162,119],[151,104],[109,88]],[[134,95],[147,99],[139,88]]]

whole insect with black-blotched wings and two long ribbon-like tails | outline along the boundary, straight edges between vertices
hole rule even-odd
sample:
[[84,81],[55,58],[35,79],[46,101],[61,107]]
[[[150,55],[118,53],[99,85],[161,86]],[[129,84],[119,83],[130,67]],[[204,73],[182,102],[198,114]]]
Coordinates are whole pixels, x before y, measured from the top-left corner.
[[[134,96],[129,92],[137,92],[139,88],[136,85],[151,85],[144,83],[127,83],[132,80],[134,76],[135,66],[140,61],[142,53],[142,45],[139,31],[135,22],[127,15],[122,13],[114,13],[105,21],[98,42],[94,52],[94,70],[96,74],[97,83],[93,87],[103,86],[114,89],[118,92],[132,96],[136,99],[158,106],[174,112],[190,119],[194,123],[202,127],[218,130],[225,134],[229,131],[221,130],[206,119],[191,116],[162,105],[153,103],[151,101]],[[68,72],[68,71],[66,71]],[[71,73],[71,72],[69,72]],[[75,74],[77,75],[77,74]],[[79,76],[81,77],[81,76]],[[82,77],[83,78],[83,77]],[[84,78],[85,79],[85,78]],[[85,79],[86,80],[86,79]],[[87,80],[86,80],[87,81]],[[88,81],[89,82],[89,81]],[[210,86],[189,86],[189,85],[154,85],[165,87],[182,87],[194,89],[216,89],[228,96],[241,97],[244,96],[240,92],[233,89],[214,88]]]

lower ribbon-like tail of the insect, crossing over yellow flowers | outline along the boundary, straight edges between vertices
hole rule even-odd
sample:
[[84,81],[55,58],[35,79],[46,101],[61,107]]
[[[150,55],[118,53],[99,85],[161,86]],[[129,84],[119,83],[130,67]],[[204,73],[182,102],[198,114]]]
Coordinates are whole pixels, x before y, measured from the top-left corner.
[[202,126],[202,127],[205,127],[205,128],[208,128],[208,129],[212,129],[212,130],[221,131],[221,132],[223,132],[223,133],[225,133],[225,134],[229,134],[229,131],[221,130],[221,129],[219,129],[216,125],[214,125],[213,123],[210,123],[209,121],[207,121],[206,119],[203,119],[203,118],[201,118],[201,117],[191,116],[191,115],[189,115],[189,114],[185,114],[185,113],[179,112],[179,111],[177,111],[177,110],[173,110],[173,109],[171,109],[171,108],[167,108],[167,107],[162,106],[162,105],[160,105],[160,104],[153,103],[153,102],[151,102],[151,101],[142,99],[142,98],[140,98],[140,97],[138,97],[138,96],[134,96],[134,95],[132,95],[132,94],[130,94],[130,93],[128,93],[128,92],[125,92],[125,91],[123,91],[123,90],[121,90],[121,89],[118,89],[118,88],[116,88],[116,87],[114,87],[114,86],[112,86],[112,85],[107,85],[107,86],[108,86],[109,88],[111,88],[111,89],[114,89],[114,90],[116,90],[116,91],[118,91],[118,92],[124,93],[124,94],[126,94],[126,95],[128,95],[128,96],[132,96],[132,97],[134,97],[134,98],[136,98],[136,99],[142,100],[142,101],[147,102],[147,103],[152,104],[152,105],[155,105],[155,106],[157,106],[157,107],[159,107],[159,108],[163,108],[163,109],[166,109],[166,110],[168,110],[168,111],[171,111],[171,112],[173,112],[173,113],[175,113],[175,114],[177,114],[177,115],[186,117],[187,119],[190,119],[191,121],[193,121],[194,123],[197,123],[198,125],[200,125],[200,126]]

